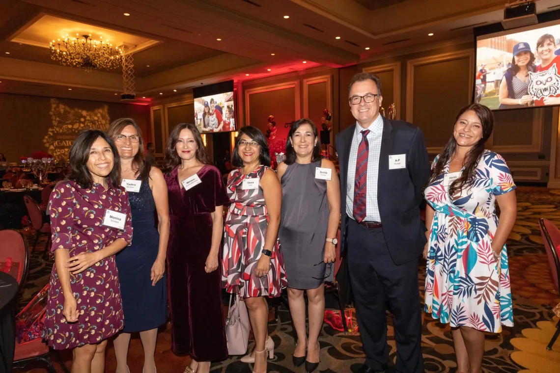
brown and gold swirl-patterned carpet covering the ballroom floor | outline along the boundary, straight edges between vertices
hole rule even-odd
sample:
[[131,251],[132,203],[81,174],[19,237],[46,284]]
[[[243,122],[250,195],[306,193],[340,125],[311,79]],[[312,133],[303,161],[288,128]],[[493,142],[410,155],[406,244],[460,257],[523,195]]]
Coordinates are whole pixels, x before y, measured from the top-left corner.
[[[544,253],[539,232],[538,219],[547,218],[560,226],[560,190],[547,190],[536,187],[520,187],[517,190],[519,206],[518,218],[508,240],[510,257],[511,286],[514,299],[514,327],[504,328],[501,334],[488,334],[486,354],[483,361],[484,372],[558,372],[560,369],[560,341],[553,351],[545,350],[552,337],[556,319],[552,307],[560,302],[558,292],[552,284],[552,276]],[[41,249],[43,246],[40,246]],[[40,253],[42,254],[42,253]],[[29,280],[21,294],[24,305],[47,282],[51,262],[44,262],[38,254],[31,259]],[[424,265],[419,262],[421,294],[424,287]],[[290,314],[280,309],[279,319],[270,313],[269,333],[276,345],[275,358],[269,361],[269,372],[304,372],[304,367],[292,365],[294,341]],[[394,361],[396,347],[392,320],[388,315],[388,338],[391,347],[390,358]],[[354,325],[356,322],[354,320]],[[181,372],[188,363],[188,357],[176,357],[170,351],[169,325],[162,328],[156,348],[158,372]],[[318,371],[322,373],[351,372],[363,363],[360,335],[344,334],[324,324],[320,336],[320,360]],[[253,348],[250,342],[249,348]],[[424,314],[422,348],[426,372],[455,372],[456,363],[452,348],[449,327],[436,322]],[[71,354],[63,357],[71,365]],[[142,371],[142,347],[138,338],[131,342],[129,367],[132,373]],[[107,357],[108,372],[114,372],[114,351],[109,348]],[[212,372],[250,373],[252,366],[239,361],[239,357],[213,363]],[[58,367],[57,367],[58,370]],[[44,372],[37,368],[31,372]],[[390,367],[388,372],[393,372]]]

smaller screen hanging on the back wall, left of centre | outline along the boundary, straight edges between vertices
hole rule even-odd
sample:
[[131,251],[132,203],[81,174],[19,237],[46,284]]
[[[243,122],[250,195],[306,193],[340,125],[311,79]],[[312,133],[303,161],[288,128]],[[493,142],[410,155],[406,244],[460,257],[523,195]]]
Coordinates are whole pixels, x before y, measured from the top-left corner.
[[193,89],[194,123],[202,134],[236,131],[234,81]]

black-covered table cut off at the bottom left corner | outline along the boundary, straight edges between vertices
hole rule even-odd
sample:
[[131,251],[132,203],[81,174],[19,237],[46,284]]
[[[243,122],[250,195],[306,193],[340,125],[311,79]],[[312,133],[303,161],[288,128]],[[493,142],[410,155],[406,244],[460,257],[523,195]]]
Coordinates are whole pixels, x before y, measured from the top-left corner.
[[16,300],[16,279],[0,271],[0,373],[9,373],[12,369],[16,347]]

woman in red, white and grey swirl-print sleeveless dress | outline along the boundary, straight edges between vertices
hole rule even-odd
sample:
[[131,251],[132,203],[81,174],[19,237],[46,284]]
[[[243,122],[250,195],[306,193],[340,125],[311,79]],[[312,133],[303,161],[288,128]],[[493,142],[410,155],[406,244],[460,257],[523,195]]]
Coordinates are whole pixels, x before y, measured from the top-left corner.
[[[237,136],[227,193],[231,205],[226,218],[222,253],[222,280],[226,291],[239,293],[249,310],[255,350],[244,361],[254,361],[253,371],[267,371],[268,304],[265,296],[280,296],[287,286],[282,252],[277,240],[282,187],[270,169],[270,153],[263,133],[245,126]],[[265,342],[266,341],[266,342]]]

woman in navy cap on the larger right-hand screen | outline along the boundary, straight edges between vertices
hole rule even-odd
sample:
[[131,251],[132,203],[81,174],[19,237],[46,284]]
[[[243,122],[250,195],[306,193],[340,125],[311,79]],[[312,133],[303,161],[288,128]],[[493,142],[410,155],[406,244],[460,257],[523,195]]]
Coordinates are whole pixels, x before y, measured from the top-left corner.
[[511,68],[503,74],[500,83],[500,108],[525,107],[533,102],[529,95],[529,73],[535,70],[535,55],[528,43],[517,43],[514,46]]

